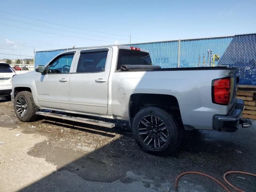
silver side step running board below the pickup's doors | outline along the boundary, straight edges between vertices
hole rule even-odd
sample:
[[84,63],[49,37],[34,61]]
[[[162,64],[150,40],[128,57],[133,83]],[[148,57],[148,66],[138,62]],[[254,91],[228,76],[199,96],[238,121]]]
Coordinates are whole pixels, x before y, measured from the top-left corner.
[[67,115],[57,114],[57,113],[38,111],[38,112],[36,112],[36,114],[47,116],[47,117],[54,117],[54,118],[65,119],[65,120],[70,120],[70,121],[87,123],[87,124],[91,124],[91,125],[98,125],[98,126],[108,127],[108,128],[113,128],[115,126],[114,123],[108,123],[108,122],[104,122],[104,121],[99,121],[99,120],[94,120],[94,119],[87,119],[87,118],[82,118],[82,117],[67,116]]

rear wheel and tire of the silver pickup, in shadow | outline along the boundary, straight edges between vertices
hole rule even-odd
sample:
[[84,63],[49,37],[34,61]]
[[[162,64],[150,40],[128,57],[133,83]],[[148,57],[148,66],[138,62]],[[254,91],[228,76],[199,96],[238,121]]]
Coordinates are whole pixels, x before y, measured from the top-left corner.
[[181,141],[182,128],[179,128],[172,114],[151,106],[135,115],[132,133],[137,144],[145,152],[167,156],[176,152]]

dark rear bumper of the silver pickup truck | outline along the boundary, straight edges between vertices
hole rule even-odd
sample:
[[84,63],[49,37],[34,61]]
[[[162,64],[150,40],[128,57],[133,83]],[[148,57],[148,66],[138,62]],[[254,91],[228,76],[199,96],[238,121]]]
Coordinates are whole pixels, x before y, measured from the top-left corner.
[[235,132],[239,124],[242,124],[244,128],[250,127],[252,122],[241,118],[243,111],[244,101],[238,99],[228,115],[214,115],[213,129],[216,131]]

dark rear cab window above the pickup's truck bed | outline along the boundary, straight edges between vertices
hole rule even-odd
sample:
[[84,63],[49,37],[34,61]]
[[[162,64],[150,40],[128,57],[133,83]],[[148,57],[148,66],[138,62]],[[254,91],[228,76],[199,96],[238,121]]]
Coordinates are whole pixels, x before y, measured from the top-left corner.
[[149,53],[120,49],[118,53],[117,69],[122,65],[152,65]]

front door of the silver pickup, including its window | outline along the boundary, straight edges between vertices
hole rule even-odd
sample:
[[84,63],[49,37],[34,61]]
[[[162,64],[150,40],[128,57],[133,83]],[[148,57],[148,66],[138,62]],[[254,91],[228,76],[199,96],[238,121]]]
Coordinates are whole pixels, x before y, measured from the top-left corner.
[[69,80],[74,66],[74,52],[57,56],[48,66],[46,74],[36,80],[38,103],[42,107],[70,110]]

